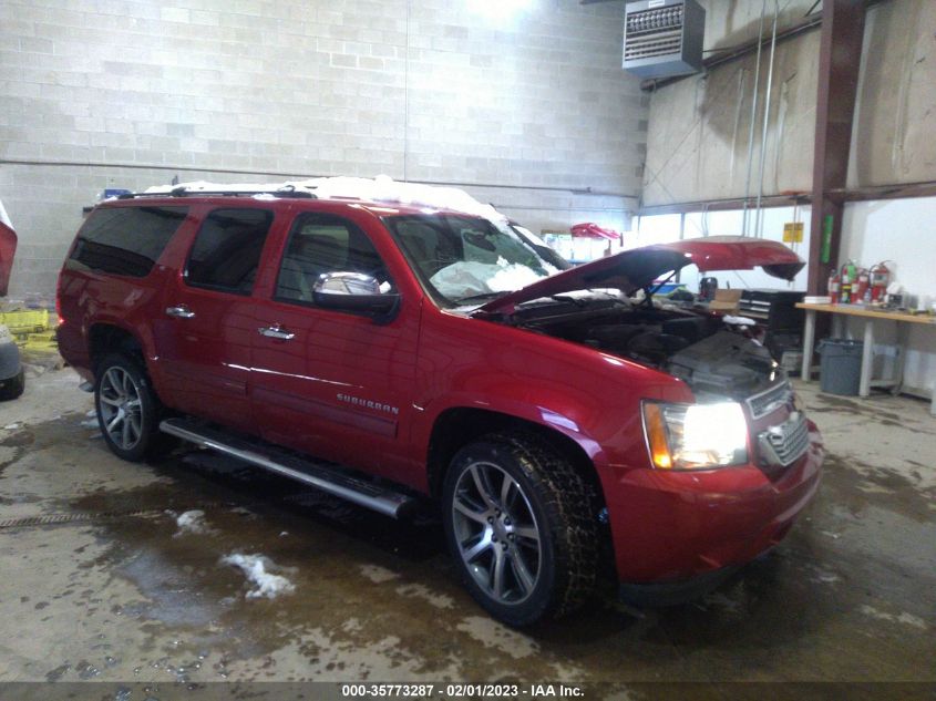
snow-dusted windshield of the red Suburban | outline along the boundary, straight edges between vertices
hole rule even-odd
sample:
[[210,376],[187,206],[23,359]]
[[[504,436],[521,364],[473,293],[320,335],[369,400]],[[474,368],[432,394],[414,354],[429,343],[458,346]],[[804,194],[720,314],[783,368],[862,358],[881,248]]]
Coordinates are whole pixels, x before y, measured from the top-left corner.
[[450,307],[483,303],[558,272],[515,231],[451,214],[385,217],[416,275]]

